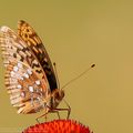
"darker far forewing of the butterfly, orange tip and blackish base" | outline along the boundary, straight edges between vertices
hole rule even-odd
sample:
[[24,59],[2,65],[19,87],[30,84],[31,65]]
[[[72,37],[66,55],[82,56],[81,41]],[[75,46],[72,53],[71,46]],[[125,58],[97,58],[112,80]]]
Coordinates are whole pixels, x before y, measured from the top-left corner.
[[42,41],[34,32],[34,30],[23,20],[19,21],[18,23],[18,34],[24,40],[24,42],[29,45],[31,51],[38,58],[40,64],[42,65],[47,74],[50,89],[52,92],[58,88],[57,80],[52,68],[52,63],[50,61],[50,58],[47,53],[44,45],[42,44]]

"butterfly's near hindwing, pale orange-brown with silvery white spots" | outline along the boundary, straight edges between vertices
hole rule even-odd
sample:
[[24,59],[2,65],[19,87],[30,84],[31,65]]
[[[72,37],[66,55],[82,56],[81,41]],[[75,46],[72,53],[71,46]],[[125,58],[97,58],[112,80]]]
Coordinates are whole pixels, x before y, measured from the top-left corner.
[[45,84],[31,68],[22,62],[9,63],[6,72],[6,86],[11,104],[18,113],[35,113],[45,108],[49,93]]

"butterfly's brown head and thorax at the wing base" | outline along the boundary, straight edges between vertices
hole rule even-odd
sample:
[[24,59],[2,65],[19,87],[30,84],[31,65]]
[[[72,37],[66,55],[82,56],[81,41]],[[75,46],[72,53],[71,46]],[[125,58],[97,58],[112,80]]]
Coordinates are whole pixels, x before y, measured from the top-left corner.
[[53,109],[57,108],[63,98],[64,98],[64,91],[61,89],[55,89],[51,96],[52,108]]

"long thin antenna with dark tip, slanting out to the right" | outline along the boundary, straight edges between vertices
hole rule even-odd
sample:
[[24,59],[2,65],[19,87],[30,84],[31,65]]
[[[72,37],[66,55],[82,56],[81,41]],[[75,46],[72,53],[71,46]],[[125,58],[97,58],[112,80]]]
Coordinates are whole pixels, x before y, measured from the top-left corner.
[[71,81],[69,81],[68,83],[65,83],[61,89],[64,89],[65,86],[68,86],[70,83],[74,82],[75,80],[78,80],[79,78],[81,78],[82,75],[84,75],[89,70],[91,70],[92,68],[94,68],[95,64],[92,64],[89,69],[86,69],[84,72],[82,72],[81,74],[79,74],[76,78],[72,79]]

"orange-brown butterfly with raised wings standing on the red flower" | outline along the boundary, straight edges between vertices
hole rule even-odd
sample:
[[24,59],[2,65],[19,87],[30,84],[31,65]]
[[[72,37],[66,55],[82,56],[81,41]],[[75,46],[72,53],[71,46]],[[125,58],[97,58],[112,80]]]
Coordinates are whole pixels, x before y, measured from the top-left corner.
[[71,110],[65,101],[66,109],[57,108],[64,98],[64,91],[58,86],[49,54],[33,28],[23,20],[18,22],[18,33],[1,27],[0,48],[6,68],[4,84],[18,113],[44,110],[38,121],[50,112],[59,115],[59,111],[68,111],[69,119]]

